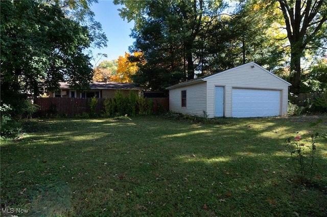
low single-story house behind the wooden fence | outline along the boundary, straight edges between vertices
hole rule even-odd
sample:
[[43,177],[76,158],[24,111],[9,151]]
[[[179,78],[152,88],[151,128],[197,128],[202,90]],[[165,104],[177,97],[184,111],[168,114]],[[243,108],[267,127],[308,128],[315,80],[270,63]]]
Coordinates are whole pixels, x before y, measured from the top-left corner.
[[48,92],[49,97],[63,97],[63,98],[113,98],[116,90],[123,91],[125,96],[128,96],[129,91],[135,91],[137,95],[141,92],[141,88],[136,87],[132,83],[118,83],[118,82],[92,82],[90,89],[87,91],[78,91],[69,88],[69,84],[59,82],[60,91]]

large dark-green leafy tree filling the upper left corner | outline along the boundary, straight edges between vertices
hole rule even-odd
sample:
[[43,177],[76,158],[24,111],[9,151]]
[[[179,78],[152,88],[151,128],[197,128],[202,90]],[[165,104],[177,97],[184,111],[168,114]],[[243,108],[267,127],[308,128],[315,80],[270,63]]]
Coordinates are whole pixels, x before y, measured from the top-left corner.
[[59,81],[87,89],[90,58],[83,53],[91,37],[57,4],[1,2],[1,100],[19,107],[22,93],[37,97],[59,89]]

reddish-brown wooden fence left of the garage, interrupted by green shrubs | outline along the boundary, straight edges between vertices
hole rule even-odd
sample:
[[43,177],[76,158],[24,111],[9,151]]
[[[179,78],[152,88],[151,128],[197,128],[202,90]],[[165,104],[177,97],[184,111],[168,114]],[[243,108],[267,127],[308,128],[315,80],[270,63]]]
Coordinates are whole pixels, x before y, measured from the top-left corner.
[[[104,98],[98,98],[96,113],[104,112]],[[147,98],[153,101],[152,111],[165,112],[169,110],[169,98]],[[91,98],[37,98],[34,103],[39,105],[39,116],[69,116],[83,115],[90,112]]]

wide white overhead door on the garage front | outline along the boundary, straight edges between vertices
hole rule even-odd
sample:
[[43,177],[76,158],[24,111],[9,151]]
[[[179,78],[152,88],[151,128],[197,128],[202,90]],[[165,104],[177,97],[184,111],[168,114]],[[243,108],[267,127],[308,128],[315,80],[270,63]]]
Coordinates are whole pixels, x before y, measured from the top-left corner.
[[232,89],[231,116],[235,118],[279,116],[281,94],[277,90]]

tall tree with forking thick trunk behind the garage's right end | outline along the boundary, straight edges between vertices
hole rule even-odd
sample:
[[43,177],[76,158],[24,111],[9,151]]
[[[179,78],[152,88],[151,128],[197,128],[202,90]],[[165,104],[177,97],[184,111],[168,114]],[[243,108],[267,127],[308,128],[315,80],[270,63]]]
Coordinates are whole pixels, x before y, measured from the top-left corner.
[[306,49],[317,50],[326,45],[326,1],[278,1],[285,20],[287,38],[291,46],[291,88],[300,92],[301,58]]

